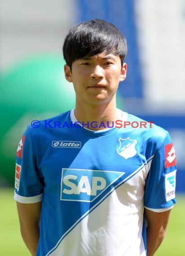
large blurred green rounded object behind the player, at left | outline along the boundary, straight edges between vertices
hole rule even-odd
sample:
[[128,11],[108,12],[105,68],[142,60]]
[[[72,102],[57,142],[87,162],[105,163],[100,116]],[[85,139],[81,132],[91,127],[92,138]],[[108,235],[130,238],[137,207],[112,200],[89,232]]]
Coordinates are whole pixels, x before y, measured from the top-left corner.
[[49,118],[75,107],[75,92],[65,79],[64,64],[62,56],[35,56],[1,75],[1,186],[7,181],[14,184],[15,153],[26,126],[34,119]]

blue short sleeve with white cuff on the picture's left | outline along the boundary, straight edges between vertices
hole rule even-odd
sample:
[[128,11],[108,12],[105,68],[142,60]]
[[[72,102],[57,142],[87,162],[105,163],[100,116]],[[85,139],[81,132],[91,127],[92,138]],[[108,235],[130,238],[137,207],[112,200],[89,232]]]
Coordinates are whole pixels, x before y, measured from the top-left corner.
[[22,135],[16,153],[14,199],[20,203],[37,203],[42,200],[43,188],[44,178],[38,168],[28,127]]

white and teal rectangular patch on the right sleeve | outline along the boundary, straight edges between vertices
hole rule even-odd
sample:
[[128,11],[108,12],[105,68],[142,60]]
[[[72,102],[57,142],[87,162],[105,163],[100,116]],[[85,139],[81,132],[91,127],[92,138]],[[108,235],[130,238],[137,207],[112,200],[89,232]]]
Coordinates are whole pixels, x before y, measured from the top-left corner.
[[166,201],[175,198],[176,170],[165,175]]

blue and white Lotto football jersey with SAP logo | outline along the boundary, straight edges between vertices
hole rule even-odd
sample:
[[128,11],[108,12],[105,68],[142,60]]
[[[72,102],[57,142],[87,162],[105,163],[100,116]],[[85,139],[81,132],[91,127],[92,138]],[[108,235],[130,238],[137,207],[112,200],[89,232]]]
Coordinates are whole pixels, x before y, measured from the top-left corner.
[[166,130],[123,116],[131,125],[92,131],[72,110],[24,132],[14,199],[42,200],[37,256],[146,255],[144,207],[176,203],[176,155]]

